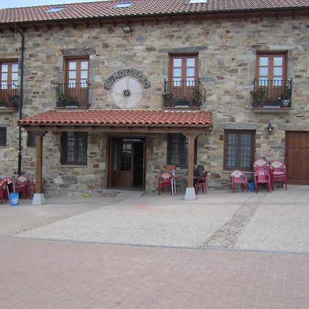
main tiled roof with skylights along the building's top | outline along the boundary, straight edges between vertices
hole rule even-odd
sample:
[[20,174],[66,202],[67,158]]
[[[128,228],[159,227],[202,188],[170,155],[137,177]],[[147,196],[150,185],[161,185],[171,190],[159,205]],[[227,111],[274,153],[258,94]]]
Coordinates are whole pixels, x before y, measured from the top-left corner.
[[[114,8],[119,2],[130,1],[133,2],[133,5],[130,5],[128,8]],[[308,8],[309,6],[309,0],[208,0],[207,3],[194,4],[189,2],[190,0],[115,0],[11,8],[0,10],[0,23],[100,19],[198,12],[239,12],[242,10],[274,10],[280,8],[297,9]],[[65,10],[45,12],[60,6],[65,7]]]

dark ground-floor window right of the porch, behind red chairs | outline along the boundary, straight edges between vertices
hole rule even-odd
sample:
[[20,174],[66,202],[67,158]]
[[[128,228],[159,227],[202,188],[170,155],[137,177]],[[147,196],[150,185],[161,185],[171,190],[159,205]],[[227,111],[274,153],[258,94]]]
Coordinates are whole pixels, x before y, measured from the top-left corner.
[[225,130],[224,169],[253,170],[255,130]]

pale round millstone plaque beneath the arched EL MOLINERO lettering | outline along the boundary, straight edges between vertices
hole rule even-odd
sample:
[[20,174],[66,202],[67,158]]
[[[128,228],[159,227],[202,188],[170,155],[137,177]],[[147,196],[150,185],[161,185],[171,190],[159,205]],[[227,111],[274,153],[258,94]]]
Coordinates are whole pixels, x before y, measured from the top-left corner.
[[141,83],[131,76],[124,76],[116,80],[111,91],[115,104],[126,109],[136,106],[143,95]]

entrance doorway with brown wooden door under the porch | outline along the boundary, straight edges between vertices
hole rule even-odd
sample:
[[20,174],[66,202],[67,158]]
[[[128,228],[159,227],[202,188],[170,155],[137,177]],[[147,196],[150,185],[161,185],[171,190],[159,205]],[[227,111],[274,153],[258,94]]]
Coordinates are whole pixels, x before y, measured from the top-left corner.
[[113,137],[109,153],[108,186],[144,189],[145,139]]

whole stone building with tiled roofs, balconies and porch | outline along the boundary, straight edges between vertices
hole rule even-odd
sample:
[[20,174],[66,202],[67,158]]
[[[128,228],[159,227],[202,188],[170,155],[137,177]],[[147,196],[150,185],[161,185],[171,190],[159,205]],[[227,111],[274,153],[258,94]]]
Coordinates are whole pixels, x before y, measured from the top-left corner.
[[308,14],[308,0],[0,10],[1,176],[43,172],[51,195],[152,191],[166,165],[192,187],[198,164],[221,188],[266,157],[308,185]]

